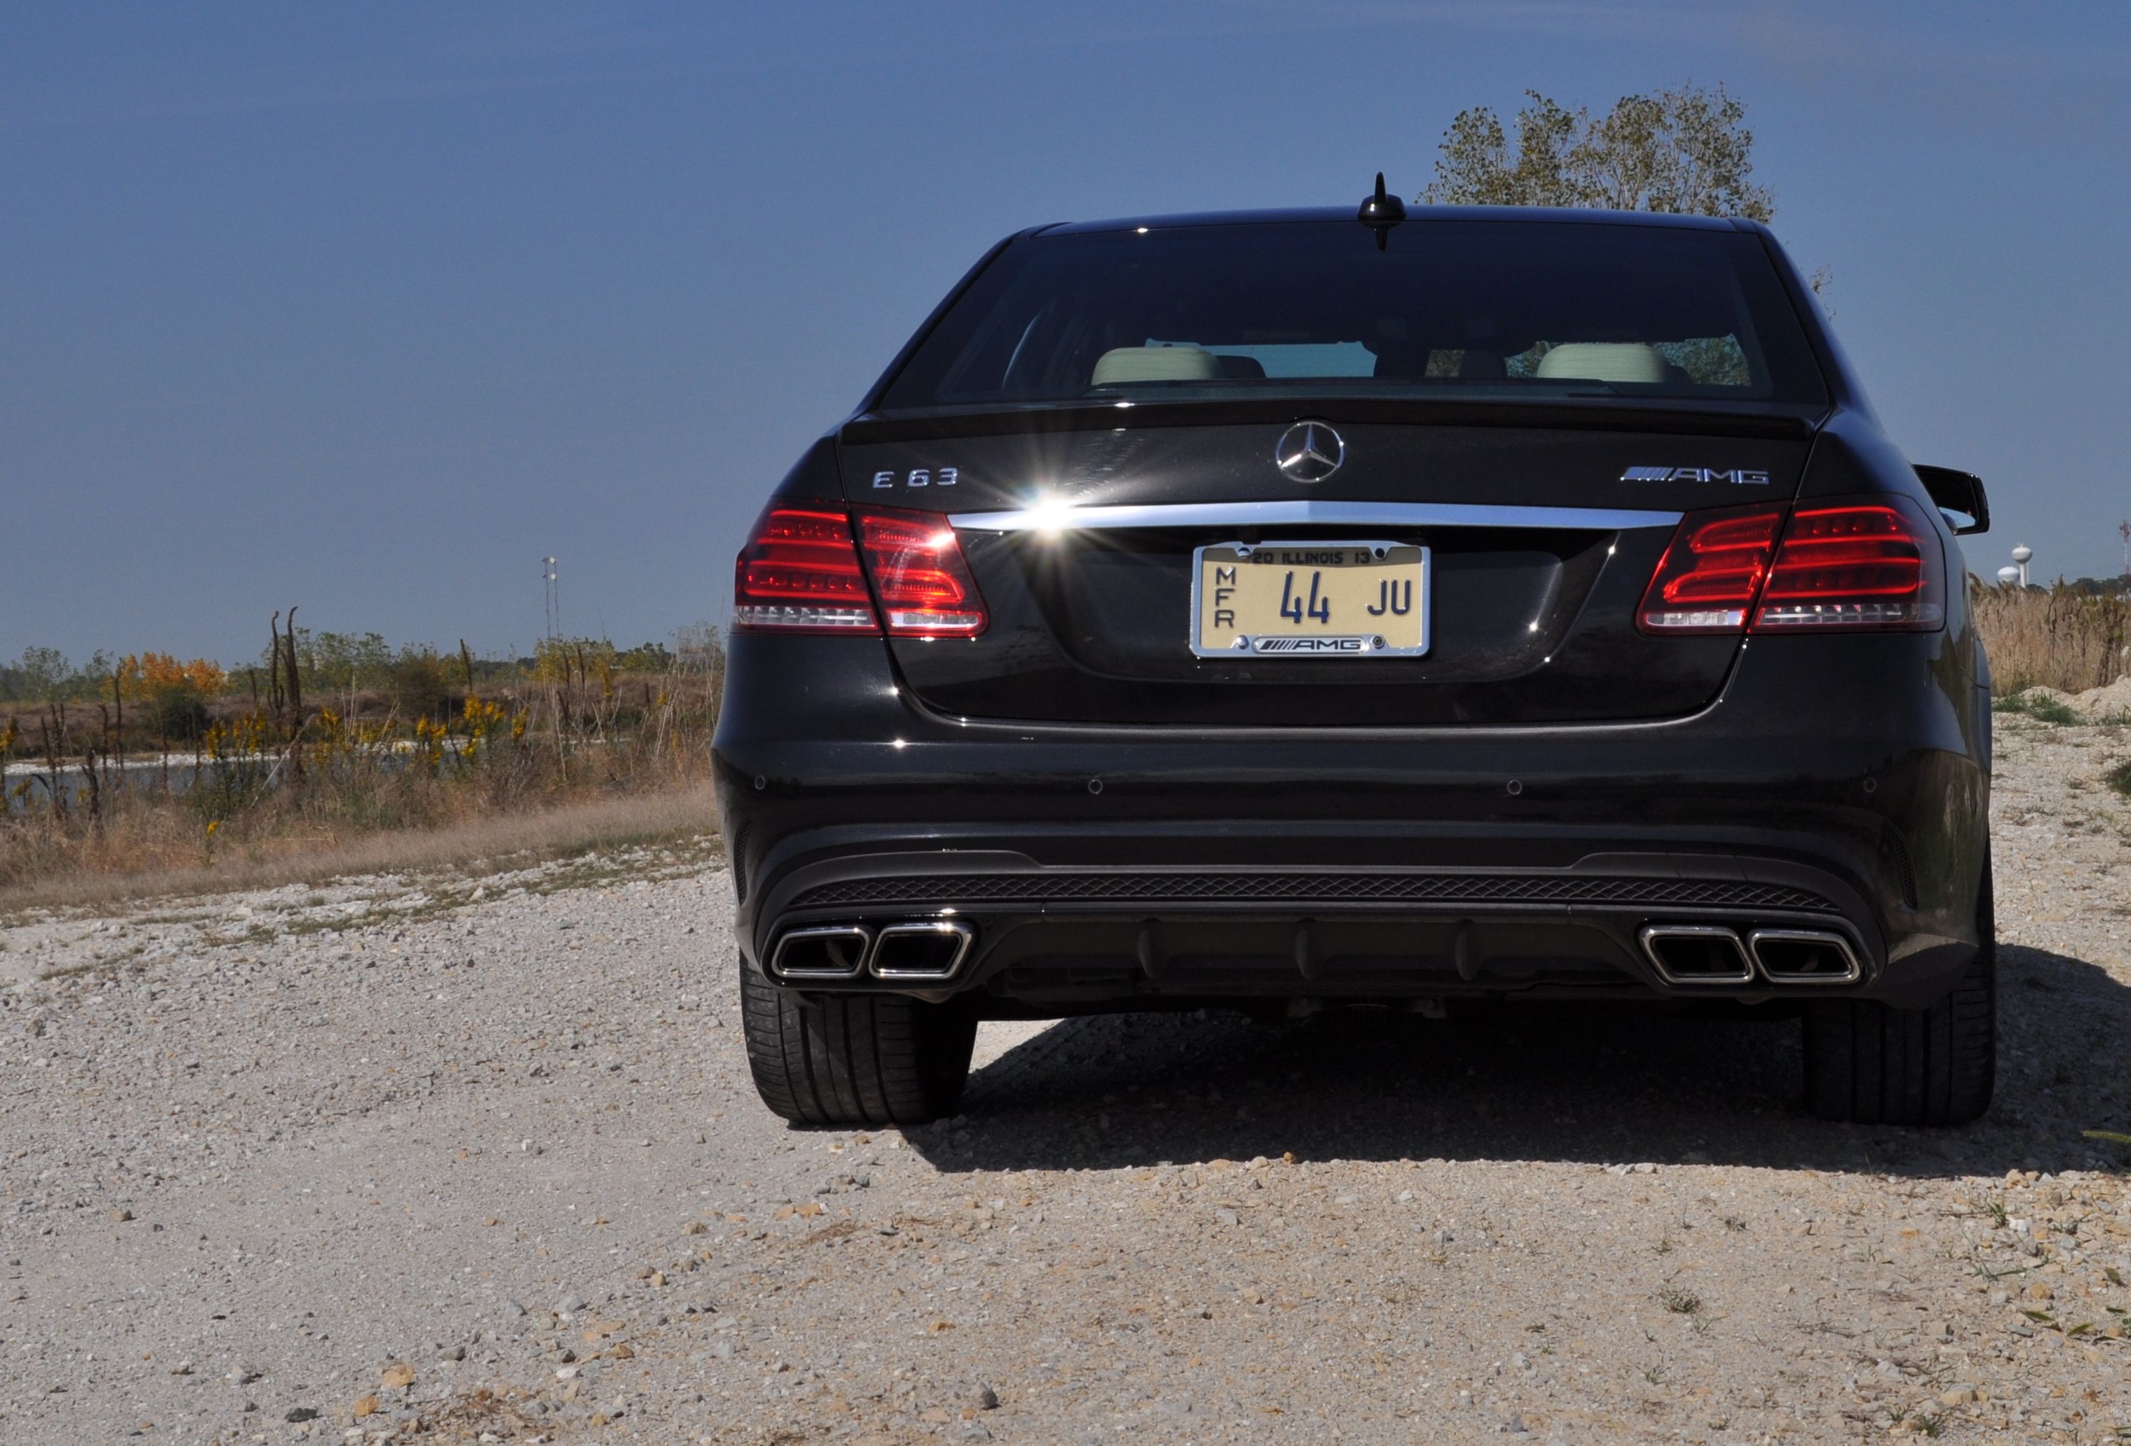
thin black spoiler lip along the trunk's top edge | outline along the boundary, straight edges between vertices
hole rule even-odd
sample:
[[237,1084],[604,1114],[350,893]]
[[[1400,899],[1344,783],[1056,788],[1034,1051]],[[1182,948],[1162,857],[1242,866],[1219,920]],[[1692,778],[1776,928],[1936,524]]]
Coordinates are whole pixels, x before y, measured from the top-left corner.
[[923,413],[859,413],[844,422],[846,447],[1016,432],[1117,432],[1157,426],[1285,426],[1304,417],[1360,426],[1485,426],[1571,432],[1658,432],[1807,441],[1828,415],[1822,405],[1652,407],[1645,402],[1475,402],[1409,396],[1249,396],[1189,402],[1066,402],[972,407]]

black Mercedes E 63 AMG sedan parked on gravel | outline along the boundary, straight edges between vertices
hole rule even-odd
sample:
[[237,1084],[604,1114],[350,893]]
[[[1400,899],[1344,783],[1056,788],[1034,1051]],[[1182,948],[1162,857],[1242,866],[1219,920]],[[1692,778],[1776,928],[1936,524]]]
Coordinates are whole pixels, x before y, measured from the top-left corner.
[[1647,1001],[1803,1020],[1818,1116],[1971,1120],[1986,524],[1754,221],[1016,232],[739,554],[761,1097],[929,1120],[987,1018]]

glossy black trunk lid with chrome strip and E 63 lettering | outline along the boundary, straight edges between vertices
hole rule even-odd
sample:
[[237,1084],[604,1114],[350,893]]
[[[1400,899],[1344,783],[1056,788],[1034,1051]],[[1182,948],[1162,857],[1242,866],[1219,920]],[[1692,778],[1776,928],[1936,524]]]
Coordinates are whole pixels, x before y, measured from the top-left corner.
[[[1108,409],[859,417],[842,434],[842,477],[859,507],[955,520],[989,609],[985,635],[891,639],[904,681],[940,713],[1385,728],[1652,720],[1707,705],[1739,639],[1645,637],[1637,603],[1681,511],[1796,494],[1809,422],[1494,411],[1528,424],[1343,413],[1330,422],[1343,460],[1317,483],[1276,466],[1296,417],[1123,428],[1100,426],[1117,415]],[[1193,556],[1223,543],[1428,547],[1426,652],[1195,656]]]

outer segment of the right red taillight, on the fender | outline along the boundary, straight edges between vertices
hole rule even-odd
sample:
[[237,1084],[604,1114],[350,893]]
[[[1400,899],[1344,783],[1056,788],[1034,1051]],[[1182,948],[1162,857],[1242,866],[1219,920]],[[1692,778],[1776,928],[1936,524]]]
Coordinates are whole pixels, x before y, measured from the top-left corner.
[[1769,569],[1756,632],[1946,624],[1946,556],[1907,498],[1801,507]]

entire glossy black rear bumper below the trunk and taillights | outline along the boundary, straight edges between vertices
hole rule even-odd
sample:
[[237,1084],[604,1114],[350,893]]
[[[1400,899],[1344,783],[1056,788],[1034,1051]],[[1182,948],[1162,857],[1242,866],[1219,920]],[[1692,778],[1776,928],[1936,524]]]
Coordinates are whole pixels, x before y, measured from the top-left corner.
[[[1988,779],[1956,705],[1969,686],[1939,686],[1935,637],[1799,641],[1828,696],[1856,699],[1811,733],[1777,658],[1758,669],[1771,696],[1741,664],[1724,699],[1662,724],[1208,735],[946,720],[897,692],[880,643],[735,637],[716,754],[739,946],[767,967],[786,933],[848,926],[857,952],[769,975],[967,992],[997,1014],[1929,1003],[1975,948]],[[754,686],[771,658],[803,713]],[[842,737],[810,737],[825,726]],[[874,958],[872,939],[923,920],[974,935],[950,973],[876,975],[914,946]],[[1835,935],[1856,977],[1779,984],[1750,960],[1728,982],[1669,980],[1641,939],[1654,924]]]

